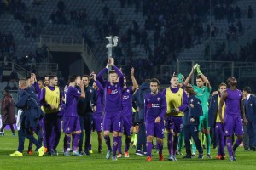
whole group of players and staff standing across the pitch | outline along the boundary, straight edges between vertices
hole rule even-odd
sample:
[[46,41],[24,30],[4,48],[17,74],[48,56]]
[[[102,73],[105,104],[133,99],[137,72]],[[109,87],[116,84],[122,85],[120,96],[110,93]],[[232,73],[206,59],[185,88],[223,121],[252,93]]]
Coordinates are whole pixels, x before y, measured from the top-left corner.
[[[196,86],[192,86],[189,81],[195,72]],[[104,80],[104,73],[108,73],[108,80]],[[94,72],[90,76],[72,75],[68,77],[68,81],[69,85],[62,93],[57,86],[56,76],[47,76],[44,80],[37,81],[35,74],[32,74],[27,79],[20,79],[19,99],[15,104],[18,108],[19,146],[10,156],[23,156],[25,138],[30,141],[30,154],[32,144],[35,144],[39,156],[57,156],[56,148],[61,138],[62,120],[65,133],[64,156],[70,156],[70,152],[73,156],[90,155],[90,136],[95,130],[98,135],[98,152],[102,153],[103,132],[108,147],[106,158],[112,156],[113,161],[122,156],[123,134],[125,157],[129,157],[129,148],[133,144],[137,146],[137,155],[147,156],[146,161],[152,161],[155,137],[159,160],[164,161],[165,131],[169,161],[177,161],[176,154],[181,149],[178,143],[182,143],[183,140],[186,148],[186,155],[183,158],[195,157],[197,149],[198,158],[202,159],[204,153],[199,133],[205,136],[207,158],[211,158],[209,127],[214,127],[218,136],[216,157],[225,159],[226,146],[229,160],[235,161],[236,148],[242,142],[242,121],[248,127],[252,127],[249,125],[254,118],[254,103],[247,104],[247,99],[242,103],[242,96],[253,98],[249,101],[255,102],[254,96],[250,95],[251,89],[246,87],[241,92],[236,88],[236,78],[230,77],[227,80],[230,88],[223,82],[219,85],[218,92],[210,96],[210,82],[197,64],[192,67],[186,79],[181,74],[173,74],[171,86],[162,92],[159,91],[160,82],[156,78],[146,79],[139,87],[133,68],[132,86],[127,87],[126,76],[114,65],[113,58],[108,60],[106,68],[97,75]],[[90,81],[93,81],[92,87],[89,85]],[[253,133],[253,128],[250,132]],[[110,133],[113,133],[113,146]],[[237,136],[235,144],[234,134]],[[252,144],[253,142],[255,143],[252,137]]]

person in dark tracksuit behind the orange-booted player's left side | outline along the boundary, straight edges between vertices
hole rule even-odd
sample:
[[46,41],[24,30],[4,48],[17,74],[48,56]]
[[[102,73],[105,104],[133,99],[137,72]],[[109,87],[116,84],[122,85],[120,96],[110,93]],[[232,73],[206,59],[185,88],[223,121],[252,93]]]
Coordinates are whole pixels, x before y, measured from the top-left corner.
[[[145,82],[140,86],[140,88],[133,94],[132,100],[137,104],[137,111],[139,114],[139,131],[137,134],[137,150],[136,155],[138,156],[147,156],[147,140],[146,140],[146,128],[145,128],[145,120],[144,120],[144,99],[145,95],[150,93],[149,87],[150,79],[146,79]],[[142,150],[143,146],[143,150]]]

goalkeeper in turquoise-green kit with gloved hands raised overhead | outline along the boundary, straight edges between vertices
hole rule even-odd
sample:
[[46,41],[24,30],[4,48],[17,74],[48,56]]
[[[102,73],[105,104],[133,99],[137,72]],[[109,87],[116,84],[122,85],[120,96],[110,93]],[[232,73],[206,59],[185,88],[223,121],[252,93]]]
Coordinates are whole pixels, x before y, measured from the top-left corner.
[[[200,65],[196,64],[192,67],[189,76],[186,78],[184,85],[187,86],[190,79],[192,78],[194,72],[197,71],[196,76],[196,86],[193,85],[196,97],[200,99],[203,115],[200,116],[200,124],[198,129],[201,130],[202,133],[205,134],[207,138],[207,158],[212,158],[210,155],[210,147],[211,147],[211,136],[210,136],[210,128],[208,127],[208,99],[210,97],[210,93],[212,87],[210,85],[209,80],[207,77],[201,72]],[[206,84],[206,86],[204,86]],[[195,144],[193,144],[193,155],[195,155]]]

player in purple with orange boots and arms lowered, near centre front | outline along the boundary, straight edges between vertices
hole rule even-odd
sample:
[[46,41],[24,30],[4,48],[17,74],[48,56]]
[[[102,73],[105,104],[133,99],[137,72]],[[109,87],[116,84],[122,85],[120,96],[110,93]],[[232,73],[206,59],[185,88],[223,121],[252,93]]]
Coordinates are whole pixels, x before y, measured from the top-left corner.
[[145,118],[146,118],[146,132],[147,132],[147,153],[146,161],[152,161],[152,140],[155,136],[159,144],[159,160],[164,161],[162,154],[163,138],[165,133],[164,116],[167,111],[166,96],[159,92],[160,82],[153,78],[150,81],[150,94],[145,96]]

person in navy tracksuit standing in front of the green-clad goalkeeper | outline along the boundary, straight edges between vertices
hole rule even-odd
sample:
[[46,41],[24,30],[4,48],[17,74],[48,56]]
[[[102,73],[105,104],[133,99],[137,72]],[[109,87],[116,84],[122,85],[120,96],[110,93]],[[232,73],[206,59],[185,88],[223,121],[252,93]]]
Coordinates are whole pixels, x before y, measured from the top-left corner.
[[203,149],[201,147],[201,141],[198,138],[198,124],[199,117],[202,115],[201,101],[195,97],[195,91],[192,86],[187,86],[185,92],[188,95],[188,107],[184,111],[183,118],[183,133],[186,147],[186,156],[183,158],[192,158],[190,149],[191,137],[195,141],[196,148],[199,152],[199,159],[203,158]]

